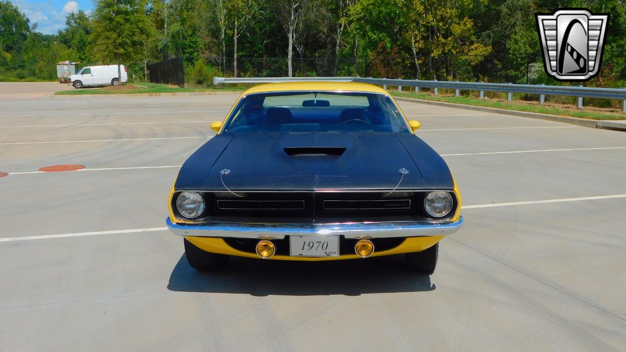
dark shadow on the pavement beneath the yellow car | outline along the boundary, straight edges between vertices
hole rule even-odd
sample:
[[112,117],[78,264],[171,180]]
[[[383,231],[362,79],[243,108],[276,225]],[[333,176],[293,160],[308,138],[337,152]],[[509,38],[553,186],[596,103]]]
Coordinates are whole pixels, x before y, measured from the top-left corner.
[[328,262],[264,261],[231,257],[223,271],[200,272],[180,257],[170,291],[239,293],[252,296],[359,296],[367,293],[433,291],[428,275],[409,272],[403,256]]

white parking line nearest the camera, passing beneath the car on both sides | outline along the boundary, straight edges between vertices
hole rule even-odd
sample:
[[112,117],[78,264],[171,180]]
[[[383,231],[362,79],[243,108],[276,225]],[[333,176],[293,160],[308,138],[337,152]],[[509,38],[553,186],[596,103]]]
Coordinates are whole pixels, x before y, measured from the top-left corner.
[[[510,207],[515,205],[528,205],[528,204],[544,204],[544,203],[559,203],[559,202],[578,202],[581,200],[597,200],[597,199],[615,199],[626,198],[626,194],[614,194],[614,195],[598,195],[594,197],[578,197],[578,198],[563,198],[563,199],[548,199],[548,200],[531,200],[529,202],[509,202],[509,203],[495,203],[495,204],[477,204],[477,205],[463,205],[461,209],[476,209],[476,208],[489,208],[489,207]],[[135,232],[155,232],[165,231],[167,227],[147,227],[144,229],[126,229],[126,230],[109,230],[109,231],[94,231],[94,232],[74,232],[73,234],[56,234],[56,235],[40,235],[40,236],[24,236],[24,237],[6,237],[0,238],[0,242],[14,242],[14,241],[29,241],[35,239],[54,239],[62,237],[80,237],[80,236],[95,236],[95,235],[113,235],[113,234],[131,234]]]

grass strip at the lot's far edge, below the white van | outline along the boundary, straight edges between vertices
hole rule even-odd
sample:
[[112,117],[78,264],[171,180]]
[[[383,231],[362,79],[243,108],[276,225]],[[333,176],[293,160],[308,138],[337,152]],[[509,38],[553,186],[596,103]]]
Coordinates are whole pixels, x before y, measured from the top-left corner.
[[[130,88],[138,86],[136,88]],[[143,88],[140,88],[140,87]],[[122,85],[123,89],[111,89],[111,86],[104,88],[85,88],[85,89],[71,89],[58,91],[56,95],[84,95],[84,94],[136,94],[136,93],[193,93],[198,91],[225,91],[218,88],[206,88],[206,87],[185,87],[180,88],[178,86],[161,85],[158,83],[125,83]],[[229,91],[240,91],[246,88],[238,86],[228,86]]]

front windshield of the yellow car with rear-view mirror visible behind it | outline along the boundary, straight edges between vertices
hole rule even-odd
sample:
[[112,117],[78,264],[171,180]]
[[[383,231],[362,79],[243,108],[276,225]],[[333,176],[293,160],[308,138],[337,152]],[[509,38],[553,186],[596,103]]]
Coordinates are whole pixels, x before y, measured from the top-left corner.
[[297,91],[244,96],[223,133],[266,131],[409,132],[398,107],[378,93]]

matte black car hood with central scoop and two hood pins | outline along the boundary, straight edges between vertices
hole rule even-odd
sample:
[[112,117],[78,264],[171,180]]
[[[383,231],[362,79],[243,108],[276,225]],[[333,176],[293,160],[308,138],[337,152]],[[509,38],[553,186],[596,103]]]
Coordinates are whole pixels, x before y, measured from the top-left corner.
[[[389,132],[218,135],[185,162],[177,190],[452,189],[443,159],[418,137]],[[424,175],[424,170],[433,175]]]

